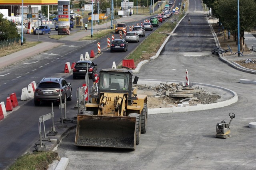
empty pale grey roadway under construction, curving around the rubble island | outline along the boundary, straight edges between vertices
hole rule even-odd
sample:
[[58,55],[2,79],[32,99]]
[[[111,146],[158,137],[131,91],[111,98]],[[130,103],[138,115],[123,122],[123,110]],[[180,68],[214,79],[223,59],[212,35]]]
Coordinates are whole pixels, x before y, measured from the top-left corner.
[[[177,2],[176,2],[177,3]],[[216,47],[210,27],[204,18],[200,0],[190,1],[188,16],[174,31],[160,56],[146,63],[136,76],[145,79],[185,81],[212,84],[234,90],[238,102],[231,106],[186,113],[148,116],[148,129],[140,137],[135,151],[102,148],[77,148],[75,131],[71,131],[56,150],[69,158],[67,170],[73,169],[256,169],[253,84],[240,84],[239,79],[256,75],[240,72],[211,55]],[[230,121],[231,138],[217,139],[216,124]]]

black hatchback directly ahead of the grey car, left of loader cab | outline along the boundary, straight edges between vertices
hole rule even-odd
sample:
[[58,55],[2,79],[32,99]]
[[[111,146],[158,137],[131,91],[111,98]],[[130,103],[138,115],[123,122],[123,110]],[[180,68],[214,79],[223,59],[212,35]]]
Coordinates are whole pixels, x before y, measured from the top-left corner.
[[94,74],[97,74],[97,64],[94,64],[92,61],[89,60],[82,60],[76,62],[74,68],[73,68],[73,79],[76,79],[77,77],[85,77],[87,73],[87,66],[88,66],[88,76],[89,78],[92,78]]

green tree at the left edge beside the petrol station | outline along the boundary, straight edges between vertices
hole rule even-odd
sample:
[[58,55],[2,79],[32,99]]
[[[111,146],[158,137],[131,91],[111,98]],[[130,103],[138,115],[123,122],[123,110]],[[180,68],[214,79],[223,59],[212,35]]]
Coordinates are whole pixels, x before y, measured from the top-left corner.
[[20,37],[15,23],[3,18],[0,14],[0,41]]

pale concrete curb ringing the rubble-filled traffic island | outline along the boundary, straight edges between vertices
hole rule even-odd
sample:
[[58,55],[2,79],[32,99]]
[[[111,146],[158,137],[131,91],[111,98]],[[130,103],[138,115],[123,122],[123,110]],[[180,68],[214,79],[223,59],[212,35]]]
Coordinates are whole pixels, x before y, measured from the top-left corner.
[[[150,83],[148,83],[150,82]],[[169,82],[170,84],[172,82],[178,82],[182,83],[182,81],[171,81],[171,80],[140,80],[138,81],[138,84],[150,84],[151,86],[157,85],[161,83],[166,83]],[[185,106],[185,107],[168,107],[168,108],[155,108],[155,109],[148,109],[148,114],[158,114],[158,113],[179,113],[179,112],[188,112],[188,111],[199,111],[199,110],[207,110],[207,109],[215,109],[219,107],[225,107],[229,106],[231,104],[234,104],[238,101],[238,96],[236,92],[229,90],[227,88],[223,88],[220,86],[214,86],[210,84],[202,84],[202,83],[196,83],[196,82],[190,82],[190,86],[206,86],[210,88],[216,88],[220,90],[224,90],[226,93],[230,94],[233,96],[232,98],[222,101],[222,102],[217,102],[217,103],[212,103],[212,104],[199,104],[197,106]]]

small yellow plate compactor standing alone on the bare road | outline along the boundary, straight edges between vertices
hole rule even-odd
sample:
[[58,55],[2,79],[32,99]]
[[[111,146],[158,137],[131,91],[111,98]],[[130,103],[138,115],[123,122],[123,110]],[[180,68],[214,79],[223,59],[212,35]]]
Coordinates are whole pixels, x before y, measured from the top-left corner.
[[227,139],[227,138],[231,137],[229,125],[230,125],[232,119],[235,118],[235,114],[234,113],[228,113],[228,115],[231,118],[229,123],[226,123],[224,120],[221,121],[221,123],[217,123],[216,138]]

